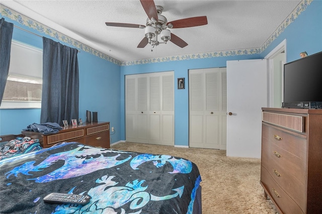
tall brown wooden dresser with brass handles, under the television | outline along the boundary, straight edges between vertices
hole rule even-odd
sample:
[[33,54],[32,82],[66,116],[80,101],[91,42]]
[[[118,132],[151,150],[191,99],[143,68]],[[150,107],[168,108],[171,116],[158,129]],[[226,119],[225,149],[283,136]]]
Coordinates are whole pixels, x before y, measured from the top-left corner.
[[322,110],[262,110],[265,197],[280,213],[322,213]]

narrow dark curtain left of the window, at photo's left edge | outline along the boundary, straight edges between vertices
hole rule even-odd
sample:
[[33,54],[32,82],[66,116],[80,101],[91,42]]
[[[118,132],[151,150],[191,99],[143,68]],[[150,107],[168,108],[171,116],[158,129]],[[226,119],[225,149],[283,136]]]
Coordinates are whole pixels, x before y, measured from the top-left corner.
[[9,73],[13,29],[14,24],[6,22],[4,18],[0,20],[0,104],[4,96]]

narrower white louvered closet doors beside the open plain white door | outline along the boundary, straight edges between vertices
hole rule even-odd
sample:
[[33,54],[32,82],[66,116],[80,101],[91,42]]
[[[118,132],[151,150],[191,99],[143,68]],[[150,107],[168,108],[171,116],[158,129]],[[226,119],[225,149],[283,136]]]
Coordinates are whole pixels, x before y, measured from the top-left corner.
[[189,70],[189,146],[226,149],[226,69]]

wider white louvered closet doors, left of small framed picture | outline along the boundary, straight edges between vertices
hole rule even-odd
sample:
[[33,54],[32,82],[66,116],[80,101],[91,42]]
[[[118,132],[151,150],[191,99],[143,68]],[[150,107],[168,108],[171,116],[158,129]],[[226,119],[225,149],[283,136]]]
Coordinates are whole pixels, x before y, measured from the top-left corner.
[[174,146],[174,72],[125,77],[126,141]]

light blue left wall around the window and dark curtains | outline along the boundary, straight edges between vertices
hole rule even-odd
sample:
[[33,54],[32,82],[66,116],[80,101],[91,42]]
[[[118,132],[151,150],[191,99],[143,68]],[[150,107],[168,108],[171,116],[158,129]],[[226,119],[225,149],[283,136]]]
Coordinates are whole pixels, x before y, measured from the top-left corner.
[[[41,34],[18,22],[5,17],[7,22],[24,28],[37,35]],[[13,39],[42,48],[42,37],[14,28]],[[58,41],[54,38],[50,38]],[[60,42],[60,41],[58,41]],[[64,44],[63,42],[60,42]],[[64,44],[68,45],[68,44]],[[70,46],[70,45],[68,45]],[[111,143],[120,140],[120,66],[107,60],[81,51],[78,53],[79,67],[79,118],[86,121],[86,110],[98,112],[99,121],[109,121],[115,127],[111,135]],[[28,72],[28,69],[26,69]],[[17,134],[28,125],[40,123],[40,109],[11,109],[0,110],[0,135]]]

